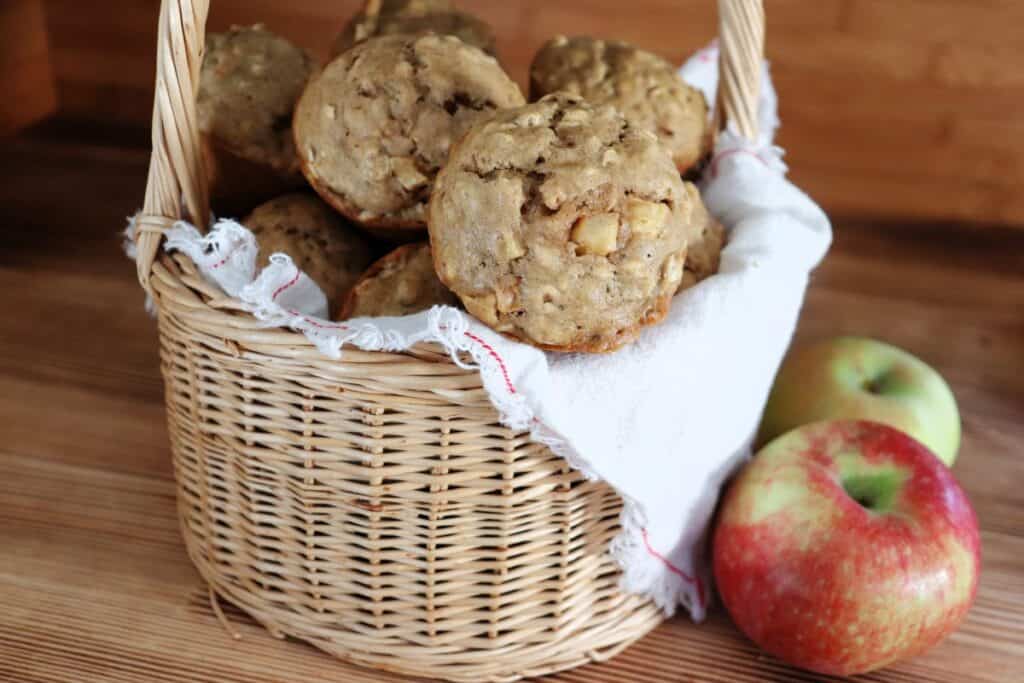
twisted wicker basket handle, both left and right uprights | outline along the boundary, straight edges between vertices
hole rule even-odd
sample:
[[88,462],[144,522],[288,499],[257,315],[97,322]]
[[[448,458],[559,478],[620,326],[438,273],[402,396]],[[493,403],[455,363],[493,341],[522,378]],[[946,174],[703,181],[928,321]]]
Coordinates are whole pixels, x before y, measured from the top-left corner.
[[[367,11],[378,13],[380,4],[380,0],[368,0]],[[731,121],[753,140],[758,133],[764,53],[763,0],[719,0],[718,5],[721,56],[716,129]],[[150,294],[161,239],[182,216],[182,209],[198,225],[209,222],[209,188],[196,113],[209,10],[210,0],[163,0],[160,5],[153,154],[135,236],[138,280]]]

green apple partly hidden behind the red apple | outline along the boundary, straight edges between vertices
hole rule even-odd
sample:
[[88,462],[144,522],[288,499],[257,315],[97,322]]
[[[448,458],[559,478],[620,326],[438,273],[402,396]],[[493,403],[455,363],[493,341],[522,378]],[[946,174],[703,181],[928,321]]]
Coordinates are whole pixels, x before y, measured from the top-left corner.
[[956,399],[934,369],[890,344],[837,337],[795,347],[761,422],[760,443],[821,420],[871,420],[900,429],[946,465],[959,449]]

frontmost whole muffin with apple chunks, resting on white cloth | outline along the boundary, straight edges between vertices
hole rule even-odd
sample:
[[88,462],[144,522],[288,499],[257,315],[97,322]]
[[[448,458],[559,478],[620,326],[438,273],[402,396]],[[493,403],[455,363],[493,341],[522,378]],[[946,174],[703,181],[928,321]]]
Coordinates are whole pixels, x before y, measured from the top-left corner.
[[653,135],[555,93],[456,145],[430,201],[430,244],[441,282],[495,330],[611,351],[665,316],[692,212]]

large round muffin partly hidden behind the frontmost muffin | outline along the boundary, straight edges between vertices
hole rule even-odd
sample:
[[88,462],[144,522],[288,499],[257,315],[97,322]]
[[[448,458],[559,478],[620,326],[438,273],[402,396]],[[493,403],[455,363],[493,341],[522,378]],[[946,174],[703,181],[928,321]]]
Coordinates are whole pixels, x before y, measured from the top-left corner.
[[498,62],[450,36],[383,36],[309,82],[295,113],[302,170],[326,202],[375,234],[422,240],[452,143],[523,103]]

